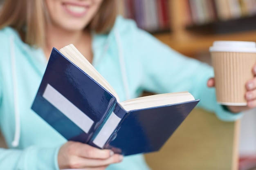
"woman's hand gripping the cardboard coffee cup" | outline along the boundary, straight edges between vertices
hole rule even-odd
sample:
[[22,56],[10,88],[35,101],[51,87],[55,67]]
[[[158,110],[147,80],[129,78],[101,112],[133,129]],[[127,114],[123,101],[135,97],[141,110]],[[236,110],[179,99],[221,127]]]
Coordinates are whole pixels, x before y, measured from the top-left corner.
[[[252,68],[252,73],[254,78],[246,82],[245,87],[247,92],[245,93],[245,99],[247,100],[247,106],[227,106],[229,110],[233,113],[238,113],[250,108],[256,107],[256,65]],[[207,82],[208,87],[214,87],[214,78],[210,78]]]

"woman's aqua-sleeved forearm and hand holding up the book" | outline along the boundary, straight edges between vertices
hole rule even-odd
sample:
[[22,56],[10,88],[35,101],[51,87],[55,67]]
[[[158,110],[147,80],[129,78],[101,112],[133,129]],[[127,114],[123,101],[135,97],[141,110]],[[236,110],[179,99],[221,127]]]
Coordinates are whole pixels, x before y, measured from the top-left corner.
[[122,161],[121,155],[68,141],[59,147],[30,146],[24,150],[0,148],[1,170],[58,170],[63,168],[105,169]]

